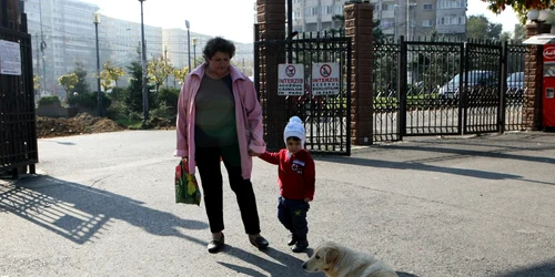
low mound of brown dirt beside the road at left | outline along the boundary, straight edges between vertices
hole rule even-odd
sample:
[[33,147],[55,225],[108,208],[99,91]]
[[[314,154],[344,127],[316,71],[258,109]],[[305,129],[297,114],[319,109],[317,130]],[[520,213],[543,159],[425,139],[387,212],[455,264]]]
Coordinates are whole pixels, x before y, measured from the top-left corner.
[[80,113],[70,119],[37,116],[38,137],[117,132],[122,130],[124,129],[114,121],[105,117],[92,116],[89,113]]

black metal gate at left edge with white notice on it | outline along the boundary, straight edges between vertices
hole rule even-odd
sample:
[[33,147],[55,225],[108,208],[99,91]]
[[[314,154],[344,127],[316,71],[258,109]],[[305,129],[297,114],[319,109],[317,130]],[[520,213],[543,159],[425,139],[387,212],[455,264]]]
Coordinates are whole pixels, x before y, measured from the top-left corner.
[[[27,22],[21,16],[22,22]],[[0,40],[20,44],[22,64],[21,75],[0,74],[0,173],[17,176],[27,166],[34,173],[38,151],[31,35],[0,27]]]

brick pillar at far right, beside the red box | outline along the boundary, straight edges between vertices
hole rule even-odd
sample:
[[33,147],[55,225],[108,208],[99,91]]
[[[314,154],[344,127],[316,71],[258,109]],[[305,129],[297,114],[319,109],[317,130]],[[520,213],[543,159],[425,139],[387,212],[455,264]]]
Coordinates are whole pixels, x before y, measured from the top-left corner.
[[[548,33],[549,24],[526,24],[526,39],[541,33]],[[542,85],[543,85],[543,45],[528,45],[525,55],[523,125],[528,131],[542,127]]]

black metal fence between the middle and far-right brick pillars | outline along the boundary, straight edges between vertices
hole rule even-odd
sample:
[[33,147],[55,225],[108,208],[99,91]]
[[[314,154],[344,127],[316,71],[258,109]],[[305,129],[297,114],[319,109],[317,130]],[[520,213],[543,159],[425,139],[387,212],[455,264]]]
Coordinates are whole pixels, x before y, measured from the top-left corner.
[[374,44],[374,142],[522,130],[525,54],[507,42]]

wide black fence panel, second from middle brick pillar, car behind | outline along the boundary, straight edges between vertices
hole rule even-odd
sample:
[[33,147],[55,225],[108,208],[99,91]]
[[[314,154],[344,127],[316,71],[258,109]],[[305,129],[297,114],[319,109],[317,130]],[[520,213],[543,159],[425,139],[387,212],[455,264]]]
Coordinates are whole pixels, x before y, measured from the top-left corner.
[[406,135],[461,133],[460,73],[464,44],[406,42]]

